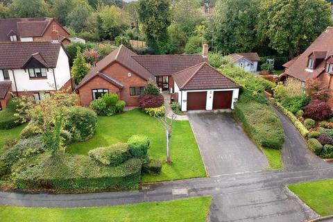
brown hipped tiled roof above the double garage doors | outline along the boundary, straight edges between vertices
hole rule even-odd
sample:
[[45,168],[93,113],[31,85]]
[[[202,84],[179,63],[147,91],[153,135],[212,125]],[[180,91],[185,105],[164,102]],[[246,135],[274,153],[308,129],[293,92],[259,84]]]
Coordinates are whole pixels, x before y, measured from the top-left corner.
[[234,89],[239,85],[224,76],[207,62],[189,67],[172,75],[180,89]]

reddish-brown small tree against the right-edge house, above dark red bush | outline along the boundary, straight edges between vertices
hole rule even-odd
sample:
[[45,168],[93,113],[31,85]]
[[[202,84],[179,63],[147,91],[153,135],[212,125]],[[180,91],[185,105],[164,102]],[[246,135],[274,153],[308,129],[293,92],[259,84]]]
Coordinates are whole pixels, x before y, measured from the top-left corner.
[[330,99],[330,93],[327,85],[322,83],[317,78],[307,80],[307,85],[305,87],[305,92],[311,97],[311,100],[321,100],[327,101]]

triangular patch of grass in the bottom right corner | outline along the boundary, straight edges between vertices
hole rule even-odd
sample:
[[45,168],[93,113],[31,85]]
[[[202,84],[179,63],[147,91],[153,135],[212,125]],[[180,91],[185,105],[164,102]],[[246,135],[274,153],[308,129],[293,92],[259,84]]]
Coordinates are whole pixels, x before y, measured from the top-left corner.
[[333,215],[333,180],[301,182],[288,188],[321,216]]

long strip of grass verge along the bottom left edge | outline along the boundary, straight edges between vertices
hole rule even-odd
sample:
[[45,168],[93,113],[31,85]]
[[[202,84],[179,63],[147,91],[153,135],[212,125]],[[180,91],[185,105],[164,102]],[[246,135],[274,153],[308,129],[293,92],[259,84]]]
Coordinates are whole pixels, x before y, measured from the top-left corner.
[[202,221],[210,210],[211,197],[112,207],[32,208],[0,206],[2,222],[25,221]]

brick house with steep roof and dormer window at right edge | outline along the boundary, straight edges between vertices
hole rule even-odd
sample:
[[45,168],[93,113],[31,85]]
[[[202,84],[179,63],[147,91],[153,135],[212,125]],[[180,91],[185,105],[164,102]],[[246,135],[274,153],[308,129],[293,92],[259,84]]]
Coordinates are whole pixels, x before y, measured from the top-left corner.
[[333,27],[326,30],[298,57],[285,63],[284,75],[300,80],[305,85],[307,80],[317,78],[330,89],[333,108]]

